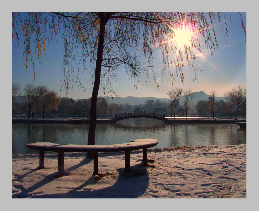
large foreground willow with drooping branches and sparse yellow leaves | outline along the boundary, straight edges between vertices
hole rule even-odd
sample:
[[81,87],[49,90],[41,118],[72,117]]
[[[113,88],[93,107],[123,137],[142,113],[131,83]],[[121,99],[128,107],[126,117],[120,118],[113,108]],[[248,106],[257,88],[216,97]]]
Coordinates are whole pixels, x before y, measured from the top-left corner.
[[[23,31],[24,64],[31,61],[33,71],[34,53],[41,63],[46,43],[64,42],[60,83],[66,90],[78,86],[92,91],[88,144],[94,144],[99,88],[116,96],[111,84],[125,74],[134,86],[159,87],[164,79],[173,83],[174,77],[183,83],[184,63],[193,68],[196,79],[197,52],[205,48],[212,54],[218,48],[216,32],[225,28],[227,33],[226,23],[224,13],[13,13],[13,38],[19,44],[16,32]],[[161,75],[153,69],[156,56],[161,57]],[[84,82],[82,75],[92,83]]]

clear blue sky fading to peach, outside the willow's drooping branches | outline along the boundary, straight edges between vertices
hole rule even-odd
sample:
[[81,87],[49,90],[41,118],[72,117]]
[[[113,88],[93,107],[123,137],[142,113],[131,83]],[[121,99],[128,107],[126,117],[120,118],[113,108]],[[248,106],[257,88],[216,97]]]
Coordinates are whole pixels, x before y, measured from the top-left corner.
[[[246,13],[242,13],[243,22],[246,26]],[[230,19],[229,19],[230,20]],[[228,21],[229,21],[228,20]],[[223,22],[224,23],[224,22]],[[224,27],[224,26],[223,26]],[[21,37],[21,36],[20,36]],[[223,34],[218,35],[219,49],[211,56],[210,52],[205,49],[197,62],[203,70],[198,73],[198,81],[193,82],[194,74],[188,66],[183,69],[184,84],[176,77],[174,85],[171,82],[163,82],[159,86],[159,90],[152,84],[150,86],[133,87],[131,81],[122,76],[123,82],[116,84],[115,91],[121,97],[158,97],[168,98],[167,91],[175,87],[182,89],[191,89],[194,91],[210,91],[215,90],[217,96],[224,96],[224,93],[236,87],[237,85],[246,85],[246,43],[245,34],[238,13],[231,13],[231,23],[228,26],[228,37]],[[12,81],[21,84],[23,89],[26,84],[34,84],[47,86],[51,90],[56,90],[61,97],[66,96],[66,91],[61,88],[59,80],[62,81],[62,59],[63,46],[62,43],[55,44],[55,48],[47,47],[47,58],[42,52],[42,64],[39,64],[35,55],[35,81],[33,82],[32,64],[28,65],[28,72],[23,65],[23,45],[20,46],[13,41],[12,48]],[[14,44],[17,46],[14,47]],[[155,67],[154,70],[159,74],[160,68]],[[82,76],[83,77],[83,76]],[[61,89],[61,91],[60,91]],[[91,92],[85,93],[83,89],[77,87],[68,91],[68,97],[73,99],[89,98]],[[100,92],[100,96],[104,96]]]

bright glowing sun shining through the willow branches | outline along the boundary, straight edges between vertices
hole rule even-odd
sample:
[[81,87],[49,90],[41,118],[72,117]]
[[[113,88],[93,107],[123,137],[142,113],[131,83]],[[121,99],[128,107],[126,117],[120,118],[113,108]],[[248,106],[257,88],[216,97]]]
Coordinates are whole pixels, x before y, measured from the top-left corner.
[[178,47],[191,45],[191,38],[194,32],[191,27],[184,25],[181,29],[173,30],[173,41]]

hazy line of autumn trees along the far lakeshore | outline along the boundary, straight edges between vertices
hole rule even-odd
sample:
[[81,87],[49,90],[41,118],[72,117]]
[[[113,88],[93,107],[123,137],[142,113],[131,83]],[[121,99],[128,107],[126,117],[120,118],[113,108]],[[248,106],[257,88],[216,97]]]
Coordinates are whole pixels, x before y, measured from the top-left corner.
[[[20,84],[13,83],[13,116],[27,115],[28,119],[33,116],[79,116],[89,117],[91,98],[74,100],[69,97],[60,97],[54,90],[46,86],[34,86],[28,84],[23,89],[22,95]],[[211,116],[217,118],[244,117],[246,116],[246,87],[238,86],[225,94],[226,101],[215,100],[215,91],[210,93],[208,100],[199,100],[192,104],[191,90],[171,89],[167,92],[168,101],[157,99],[147,100],[145,103],[130,105],[129,103],[108,103],[105,97],[97,98],[97,116],[112,116],[115,113],[134,113],[136,107],[142,111],[153,113],[155,107],[163,107],[167,111],[165,115],[175,117],[178,108],[184,108],[186,116]],[[181,98],[182,97],[182,98]],[[188,112],[187,112],[188,108]],[[32,114],[33,113],[33,114]]]

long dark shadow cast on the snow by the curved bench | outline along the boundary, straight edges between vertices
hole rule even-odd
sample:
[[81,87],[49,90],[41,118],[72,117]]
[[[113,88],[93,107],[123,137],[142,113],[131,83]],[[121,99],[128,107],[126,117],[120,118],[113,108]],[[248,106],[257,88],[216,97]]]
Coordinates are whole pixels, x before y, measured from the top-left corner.
[[[91,159],[85,158],[79,164],[76,164],[66,169],[66,172],[74,171],[78,167],[83,166],[90,161]],[[31,172],[35,170],[32,170]],[[119,176],[116,179],[116,182],[112,186],[106,188],[98,190],[91,190],[91,188],[88,188],[88,185],[94,185],[97,182],[102,183],[102,178],[104,177],[114,177],[114,174],[112,173],[99,172],[99,181],[95,179],[92,175],[83,184],[76,188],[73,188],[67,193],[44,194],[42,192],[33,192],[37,188],[53,181],[55,179],[55,175],[57,174],[57,172],[55,172],[53,174],[49,174],[46,178],[37,182],[29,188],[17,187],[21,190],[21,192],[13,194],[13,198],[138,198],[145,193],[149,185],[149,177],[146,167],[142,166],[141,164],[137,164],[131,166],[131,173],[124,173],[123,168],[119,168],[117,169],[117,171],[119,172]],[[16,181],[18,181],[20,178],[25,177],[26,175],[21,175],[16,179]]]

